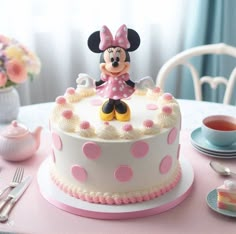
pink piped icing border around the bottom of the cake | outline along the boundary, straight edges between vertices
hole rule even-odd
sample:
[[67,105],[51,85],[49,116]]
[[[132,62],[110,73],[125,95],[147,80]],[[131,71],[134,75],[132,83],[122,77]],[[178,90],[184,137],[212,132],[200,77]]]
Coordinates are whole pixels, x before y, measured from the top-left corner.
[[152,200],[154,198],[157,198],[161,195],[164,195],[165,193],[169,192],[170,190],[172,190],[180,181],[181,178],[181,167],[180,165],[178,165],[177,168],[177,174],[175,175],[174,179],[167,185],[165,185],[162,188],[158,188],[157,190],[154,190],[153,192],[146,192],[146,193],[142,193],[142,195],[140,196],[133,196],[133,197],[117,197],[117,198],[113,198],[113,197],[106,197],[103,195],[100,196],[90,196],[88,193],[82,193],[82,192],[78,192],[76,191],[76,189],[73,189],[72,186],[69,186],[65,183],[63,183],[60,179],[58,179],[56,177],[56,175],[54,175],[52,173],[52,171],[50,172],[50,176],[52,181],[65,193],[69,194],[72,197],[81,199],[83,201],[87,201],[87,202],[91,202],[91,203],[101,203],[101,204],[109,204],[109,205],[121,205],[121,204],[129,204],[129,203],[137,203],[137,202],[143,202],[143,201],[149,201]]

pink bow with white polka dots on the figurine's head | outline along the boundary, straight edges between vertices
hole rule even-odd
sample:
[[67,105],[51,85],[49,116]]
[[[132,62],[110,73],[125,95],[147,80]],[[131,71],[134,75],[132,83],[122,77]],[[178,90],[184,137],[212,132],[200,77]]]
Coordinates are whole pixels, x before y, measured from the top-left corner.
[[130,48],[130,43],[127,38],[128,29],[126,25],[121,25],[117,30],[115,38],[113,38],[107,26],[103,26],[100,31],[101,42],[99,44],[100,50],[106,50],[111,46],[119,46],[123,49]]

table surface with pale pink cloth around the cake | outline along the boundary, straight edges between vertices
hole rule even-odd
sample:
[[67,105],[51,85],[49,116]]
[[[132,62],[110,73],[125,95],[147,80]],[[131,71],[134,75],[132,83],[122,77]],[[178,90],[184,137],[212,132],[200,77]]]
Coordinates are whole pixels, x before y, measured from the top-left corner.
[[[213,158],[197,152],[191,145],[191,131],[210,114],[236,116],[236,107],[217,103],[179,100],[182,113],[181,153],[195,173],[192,192],[177,207],[164,213],[129,220],[96,220],[76,216],[48,203],[39,193],[37,170],[50,153],[48,116],[52,103],[36,104],[20,108],[18,120],[34,129],[44,127],[41,146],[35,156],[25,162],[11,163],[0,159],[0,186],[12,178],[17,166],[25,168],[25,175],[34,179],[28,190],[10,215],[7,223],[0,223],[0,231],[19,233],[235,233],[235,218],[222,216],[206,204],[207,194],[225,180],[209,166]],[[4,125],[0,125],[0,128]],[[215,160],[215,159],[214,159]],[[217,159],[236,171],[236,159]]]

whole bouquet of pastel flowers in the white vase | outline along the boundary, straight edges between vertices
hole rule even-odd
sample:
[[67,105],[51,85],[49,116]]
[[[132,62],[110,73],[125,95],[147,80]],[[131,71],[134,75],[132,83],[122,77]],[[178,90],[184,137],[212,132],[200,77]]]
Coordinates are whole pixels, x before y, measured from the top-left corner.
[[33,79],[41,69],[39,58],[15,39],[0,35],[0,89]]

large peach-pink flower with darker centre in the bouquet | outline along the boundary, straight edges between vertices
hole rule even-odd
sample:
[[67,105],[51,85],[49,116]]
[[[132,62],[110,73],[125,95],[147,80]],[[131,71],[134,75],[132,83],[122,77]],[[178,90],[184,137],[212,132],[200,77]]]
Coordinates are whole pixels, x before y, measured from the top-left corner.
[[23,83],[27,79],[25,66],[18,60],[12,59],[6,64],[7,75],[12,82]]

